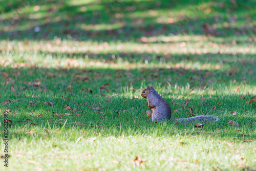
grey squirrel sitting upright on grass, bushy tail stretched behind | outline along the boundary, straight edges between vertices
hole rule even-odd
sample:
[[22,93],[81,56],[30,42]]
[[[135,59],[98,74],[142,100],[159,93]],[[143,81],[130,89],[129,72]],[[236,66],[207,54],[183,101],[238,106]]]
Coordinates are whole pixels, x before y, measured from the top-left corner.
[[[172,110],[170,109],[169,103],[162,98],[154,89],[153,86],[149,87],[147,86],[147,89],[143,90],[141,93],[141,96],[145,99],[147,99],[148,102],[148,108],[151,109],[153,112],[146,111],[147,117],[152,118],[152,121],[161,121],[161,120],[169,120],[172,116]],[[196,117],[190,117],[190,118],[180,118],[175,119],[175,121],[180,122],[193,122],[193,121],[218,121],[219,118],[217,116],[206,116],[206,115],[200,115]]]

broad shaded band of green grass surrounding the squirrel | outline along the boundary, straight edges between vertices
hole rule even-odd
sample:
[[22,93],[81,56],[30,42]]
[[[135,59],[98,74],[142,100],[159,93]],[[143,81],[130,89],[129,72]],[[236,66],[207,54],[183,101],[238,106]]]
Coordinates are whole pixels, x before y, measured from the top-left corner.
[[[27,129],[36,128],[37,125],[30,124],[32,122],[38,124],[40,129],[43,129],[44,126],[47,129],[60,129],[66,119],[68,122],[65,131],[71,131],[75,127],[88,131],[90,134],[96,132],[106,136],[118,136],[122,132],[127,135],[156,133],[159,136],[176,134],[216,136],[219,135],[217,130],[222,130],[220,135],[223,138],[231,138],[234,135],[237,136],[238,133],[234,132],[233,129],[230,132],[224,132],[224,130],[230,130],[230,126],[224,123],[229,120],[236,121],[242,126],[255,123],[255,106],[250,106],[247,102],[253,95],[244,94],[245,99],[241,99],[241,94],[237,92],[222,94],[222,90],[229,86],[232,78],[223,77],[222,75],[226,73],[222,73],[221,70],[209,72],[204,70],[156,69],[159,76],[155,78],[154,75],[151,75],[152,69],[141,71],[140,69],[48,69],[37,67],[14,69],[6,67],[1,68],[1,70],[3,71],[1,79],[5,82],[5,84],[2,82],[1,87],[6,90],[0,97],[1,110],[11,110],[11,115],[8,118],[12,120],[14,125],[11,128],[11,135],[20,138],[29,135],[17,133],[17,127],[22,129],[25,124],[29,124]],[[217,79],[218,74],[221,74],[220,82]],[[236,79],[239,79],[238,74],[235,75]],[[178,85],[170,86],[169,82],[171,81],[163,81],[168,76],[177,80]],[[251,75],[244,74],[243,76],[251,79]],[[150,78],[152,78],[151,81],[148,80]],[[213,78],[217,80],[211,81]],[[191,83],[192,81],[194,84]],[[191,85],[190,88],[181,88],[182,86],[186,87],[187,82]],[[194,109],[195,114],[219,116],[220,121],[217,124],[206,124],[202,131],[191,131],[194,123],[176,125],[174,122],[168,121],[163,124],[153,124],[145,116],[145,111],[148,110],[147,101],[134,98],[135,95],[140,97],[141,90],[150,84],[154,84],[159,94],[170,103],[173,111],[180,111],[180,113],[173,113],[172,118],[186,118],[190,114],[189,108],[184,108],[185,100],[189,99],[188,106]],[[15,93],[11,91],[11,86],[14,87]],[[101,86],[104,86],[101,88],[102,91]],[[181,87],[179,88],[179,86]],[[211,94],[211,87],[218,90],[218,94]],[[198,90],[204,90],[205,101],[202,100],[201,93],[197,94]],[[191,93],[193,91],[196,93]],[[20,95],[17,92],[20,92]],[[112,100],[107,96],[111,96]],[[131,99],[131,97],[133,98]],[[54,105],[44,103],[49,101],[53,102]],[[36,103],[36,106],[31,105],[30,102]],[[72,110],[67,109],[67,104]],[[211,110],[214,105],[216,105],[216,111]],[[99,111],[93,109],[97,106],[100,107]],[[232,111],[238,112],[239,115],[233,116]],[[39,114],[42,114],[42,117],[37,117]],[[26,119],[31,121],[18,123],[19,120]],[[122,125],[121,133],[120,124]],[[251,129],[251,127],[246,127],[244,130],[249,131],[249,128]],[[172,129],[175,131],[173,132]],[[212,130],[216,132],[210,133]],[[104,133],[105,131],[106,133]],[[250,132],[247,138],[255,139],[254,133]]]

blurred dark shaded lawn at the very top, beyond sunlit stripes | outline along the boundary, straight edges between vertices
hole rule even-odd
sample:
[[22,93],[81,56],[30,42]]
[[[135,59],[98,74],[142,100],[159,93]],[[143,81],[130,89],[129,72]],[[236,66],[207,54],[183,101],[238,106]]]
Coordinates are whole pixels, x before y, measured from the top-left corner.
[[[72,5],[72,1],[19,1],[2,5],[2,14],[10,13],[15,19],[2,20],[5,29],[0,30],[0,39],[48,40],[55,36],[62,39],[97,41],[134,41],[142,36],[169,36],[177,34],[210,34],[212,36],[253,35],[254,27],[212,28],[212,24],[228,22],[219,17],[228,9],[237,12],[236,22],[247,25],[244,16],[256,15],[251,10],[254,1],[232,5],[229,1],[95,1]],[[5,3],[3,3],[5,4]],[[220,8],[219,6],[221,6]],[[38,12],[33,8],[39,5]],[[215,11],[205,14],[205,8]],[[19,12],[19,8],[31,8]],[[15,12],[16,11],[16,12]],[[25,10],[26,11],[26,10]],[[190,14],[190,15],[189,15]],[[205,15],[203,15],[205,14]],[[176,18],[175,23],[166,23],[163,18]],[[231,19],[233,16],[230,16]],[[218,19],[216,19],[218,18]],[[10,18],[11,19],[11,18]],[[35,27],[37,31],[35,32]],[[39,30],[38,30],[39,29]]]

